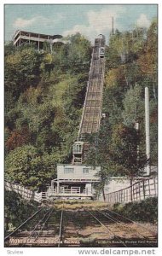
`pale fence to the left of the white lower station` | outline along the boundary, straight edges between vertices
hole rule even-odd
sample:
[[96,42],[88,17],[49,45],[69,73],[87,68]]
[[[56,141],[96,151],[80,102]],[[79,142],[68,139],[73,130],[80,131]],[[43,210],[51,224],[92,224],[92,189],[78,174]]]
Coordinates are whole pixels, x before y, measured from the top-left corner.
[[31,189],[26,189],[20,184],[11,183],[9,181],[4,182],[5,189],[7,191],[14,191],[15,193],[22,196],[23,199],[27,201],[38,201],[41,202],[43,199],[43,192],[32,191]]

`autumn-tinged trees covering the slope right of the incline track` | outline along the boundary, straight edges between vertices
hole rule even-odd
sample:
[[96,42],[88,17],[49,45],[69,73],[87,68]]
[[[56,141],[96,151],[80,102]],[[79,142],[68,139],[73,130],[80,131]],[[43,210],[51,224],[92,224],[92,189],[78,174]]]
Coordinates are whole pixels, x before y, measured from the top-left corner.
[[[87,160],[91,165],[101,166],[99,189],[103,189],[111,176],[130,177],[131,182],[133,177],[143,175],[148,163],[144,123],[146,86],[150,90],[151,163],[157,165],[157,80],[152,75],[157,68],[156,28],[153,21],[148,32],[136,27],[130,32],[116,31],[110,37],[102,107],[106,118],[102,119],[98,138],[92,139]],[[146,61],[148,56],[150,60]],[[148,76],[149,70],[153,72]],[[139,131],[135,129],[136,122]]]

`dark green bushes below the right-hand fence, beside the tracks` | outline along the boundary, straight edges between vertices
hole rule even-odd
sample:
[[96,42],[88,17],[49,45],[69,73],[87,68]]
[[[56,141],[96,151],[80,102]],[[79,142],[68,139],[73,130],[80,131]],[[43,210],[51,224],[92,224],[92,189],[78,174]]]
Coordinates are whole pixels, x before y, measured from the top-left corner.
[[124,206],[117,203],[113,211],[135,221],[157,223],[158,220],[158,199],[150,197],[140,202],[130,202]]

